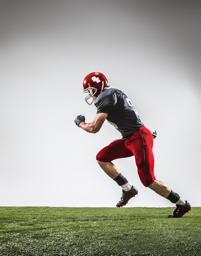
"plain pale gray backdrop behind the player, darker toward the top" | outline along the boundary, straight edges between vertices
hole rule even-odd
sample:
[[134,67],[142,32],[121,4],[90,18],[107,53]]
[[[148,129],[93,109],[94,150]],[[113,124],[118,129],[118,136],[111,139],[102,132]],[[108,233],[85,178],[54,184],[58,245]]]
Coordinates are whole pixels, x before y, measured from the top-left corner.
[[[0,205],[115,207],[96,153],[121,135],[74,124],[93,120],[82,83],[102,72],[157,130],[156,177],[201,206],[200,23],[200,1],[0,0]],[[127,207],[174,206],[134,157],[114,163],[139,190]]]

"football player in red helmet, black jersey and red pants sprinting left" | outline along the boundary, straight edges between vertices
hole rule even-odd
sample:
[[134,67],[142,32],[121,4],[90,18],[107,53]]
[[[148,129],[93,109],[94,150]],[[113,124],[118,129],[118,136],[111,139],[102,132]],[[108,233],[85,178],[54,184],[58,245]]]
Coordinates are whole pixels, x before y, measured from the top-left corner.
[[122,196],[116,207],[122,207],[137,195],[138,190],[121,174],[112,161],[123,157],[135,157],[138,175],[142,184],[159,195],[176,204],[176,209],[169,218],[179,218],[190,211],[190,204],[172,191],[164,182],[154,175],[153,138],[156,131],[145,127],[131,100],[121,90],[109,88],[104,74],[93,72],[83,81],[83,92],[87,93],[85,101],[97,108],[94,120],[85,123],[85,117],[78,115],[75,124],[86,132],[96,133],[105,119],[122,135],[122,139],[112,141],[96,155],[99,166],[122,188]]

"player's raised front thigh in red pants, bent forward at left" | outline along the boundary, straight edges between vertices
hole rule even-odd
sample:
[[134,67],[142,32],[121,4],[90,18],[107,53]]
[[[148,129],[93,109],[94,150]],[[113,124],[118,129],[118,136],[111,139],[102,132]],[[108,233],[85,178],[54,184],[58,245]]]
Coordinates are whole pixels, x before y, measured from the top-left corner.
[[96,155],[96,160],[111,162],[114,159],[131,156],[133,156],[133,153],[125,147],[125,141],[123,139],[117,139],[101,149]]

